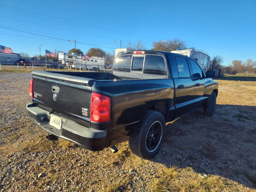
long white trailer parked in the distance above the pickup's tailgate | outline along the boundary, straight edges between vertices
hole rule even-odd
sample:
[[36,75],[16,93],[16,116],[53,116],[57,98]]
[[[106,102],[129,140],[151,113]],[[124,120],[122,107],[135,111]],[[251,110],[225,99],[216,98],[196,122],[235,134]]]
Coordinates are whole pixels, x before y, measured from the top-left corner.
[[72,68],[89,69],[89,70],[104,70],[104,57],[89,57],[88,60],[81,59],[81,55],[76,53],[76,62],[75,62],[75,53],[59,53],[59,60],[64,66]]

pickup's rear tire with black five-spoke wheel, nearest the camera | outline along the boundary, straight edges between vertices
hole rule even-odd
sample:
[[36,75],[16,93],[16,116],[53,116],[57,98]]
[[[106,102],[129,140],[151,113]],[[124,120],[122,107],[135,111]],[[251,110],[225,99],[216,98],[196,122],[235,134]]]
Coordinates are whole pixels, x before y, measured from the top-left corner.
[[164,116],[157,111],[147,110],[140,128],[129,139],[129,148],[134,155],[151,159],[160,150],[165,133]]

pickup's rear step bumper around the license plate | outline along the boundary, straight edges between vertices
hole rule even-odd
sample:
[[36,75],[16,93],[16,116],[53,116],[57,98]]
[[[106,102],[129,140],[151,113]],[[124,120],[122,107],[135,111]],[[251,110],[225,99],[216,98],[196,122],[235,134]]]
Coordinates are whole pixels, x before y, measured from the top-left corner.
[[33,103],[27,104],[27,110],[29,117],[36,124],[57,137],[74,142],[91,151],[100,151],[106,147],[107,131],[87,128],[61,116],[58,116],[62,121],[61,130],[59,130],[50,125],[51,112],[34,106]]

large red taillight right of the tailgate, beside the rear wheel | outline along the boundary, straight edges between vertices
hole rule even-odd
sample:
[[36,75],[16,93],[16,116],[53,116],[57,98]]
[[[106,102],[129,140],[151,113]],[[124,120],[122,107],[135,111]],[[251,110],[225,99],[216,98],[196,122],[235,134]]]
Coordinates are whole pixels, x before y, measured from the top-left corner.
[[110,121],[110,97],[92,92],[91,120],[98,123]]

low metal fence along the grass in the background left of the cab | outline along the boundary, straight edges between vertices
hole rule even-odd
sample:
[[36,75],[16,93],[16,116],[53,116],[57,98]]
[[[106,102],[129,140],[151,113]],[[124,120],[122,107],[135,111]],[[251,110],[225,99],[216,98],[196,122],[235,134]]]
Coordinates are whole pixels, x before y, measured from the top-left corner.
[[[89,65],[87,65],[89,66]],[[17,73],[28,73],[31,71],[105,71],[109,69],[102,69],[102,66],[100,65],[90,65],[91,67],[88,68],[81,68],[81,66],[74,66],[74,65],[69,65],[69,66],[63,66],[63,64],[57,64],[57,65],[37,65],[34,63],[30,64],[22,64],[22,63],[10,63],[10,64],[1,64],[0,62],[0,72],[17,72]],[[94,68],[94,70],[90,68]]]

